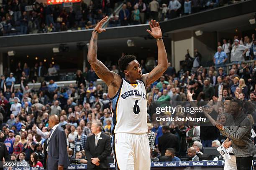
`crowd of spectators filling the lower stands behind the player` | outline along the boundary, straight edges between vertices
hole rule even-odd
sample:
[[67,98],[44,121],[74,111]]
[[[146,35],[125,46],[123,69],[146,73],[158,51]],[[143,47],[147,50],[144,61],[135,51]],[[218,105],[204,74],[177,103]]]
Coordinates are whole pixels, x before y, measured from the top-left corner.
[[[245,46],[241,52],[244,53],[244,57],[251,57],[255,60],[256,42],[253,40],[254,44],[247,45],[250,40],[248,37],[245,39],[247,41],[238,40],[237,42],[237,37],[235,37],[233,48],[237,50],[236,46],[244,46],[245,43],[247,47]],[[218,52],[222,53],[223,48],[228,56],[228,52],[225,51],[226,41],[223,40],[223,42],[223,45],[219,44],[221,48],[218,47],[220,50]],[[246,55],[248,50],[245,49],[248,49],[250,45],[254,53],[250,50],[249,55]],[[230,46],[232,47],[232,44]],[[230,59],[233,62],[233,50],[230,51]],[[181,70],[176,72],[169,63],[168,69],[159,80],[146,88],[147,134],[152,161],[179,161],[186,156],[190,160],[198,160],[197,155],[203,154],[203,147],[218,147],[225,140],[218,129],[207,122],[207,125],[202,125],[188,121],[156,121],[157,116],[169,116],[168,113],[156,114],[158,101],[177,107],[184,105],[183,102],[188,101],[189,97],[192,97],[192,100],[205,101],[204,106],[207,112],[225,125],[227,118],[225,108],[217,103],[218,101],[224,102],[228,97],[238,98],[243,101],[244,108],[246,108],[244,112],[251,117],[252,125],[254,125],[253,120],[256,119],[256,60],[252,65],[248,65],[241,57],[238,57],[233,65],[227,67],[220,65],[222,62],[216,62],[220,59],[218,55],[215,55],[215,66],[207,70],[200,67],[202,57],[200,52],[195,50],[194,56],[190,57],[187,51],[184,61],[187,64],[181,65]],[[223,60],[225,59],[226,57],[223,57]],[[141,60],[140,63],[143,73],[149,72],[156,66],[154,57],[149,57],[146,62]],[[105,61],[105,65],[123,76],[110,60]],[[92,122],[102,122],[102,129],[105,133],[110,132],[112,123],[110,99],[107,91],[104,91],[101,85],[96,85],[97,75],[92,67],[90,69],[86,67],[84,72],[77,70],[76,84],[70,84],[69,87],[58,87],[53,80],[46,84],[44,75],[55,73],[52,66],[47,73],[42,62],[39,65],[36,64],[33,69],[26,64],[22,68],[19,63],[15,72],[16,78],[13,77],[13,73],[10,73],[6,79],[4,75],[1,76],[0,142],[5,143],[13,161],[26,160],[31,166],[42,166],[44,141],[50,133],[48,128],[50,115],[58,115],[59,125],[65,129],[67,150],[72,163],[87,163],[84,147],[86,138],[92,135],[90,130]],[[36,90],[33,86],[28,86],[28,81],[41,82],[41,87]],[[20,87],[14,88],[17,82],[20,83]],[[191,114],[175,112],[174,116],[186,117]],[[82,136],[81,142],[77,142],[77,135]],[[76,147],[76,145],[81,147]]]

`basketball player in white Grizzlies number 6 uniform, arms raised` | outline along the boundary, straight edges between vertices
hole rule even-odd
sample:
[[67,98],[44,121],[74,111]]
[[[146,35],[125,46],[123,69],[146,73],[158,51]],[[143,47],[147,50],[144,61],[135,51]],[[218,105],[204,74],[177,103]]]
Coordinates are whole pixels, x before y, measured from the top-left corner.
[[147,137],[146,86],[155,82],[167,70],[167,54],[162,40],[160,25],[151,20],[151,30],[146,30],[156,39],[158,65],[148,74],[141,73],[136,57],[125,55],[118,61],[125,74],[121,78],[97,60],[98,35],[106,30],[103,18],[94,28],[88,51],[88,62],[96,74],[108,85],[108,95],[112,103],[113,121],[111,125],[112,148],[116,170],[150,170],[150,150]]

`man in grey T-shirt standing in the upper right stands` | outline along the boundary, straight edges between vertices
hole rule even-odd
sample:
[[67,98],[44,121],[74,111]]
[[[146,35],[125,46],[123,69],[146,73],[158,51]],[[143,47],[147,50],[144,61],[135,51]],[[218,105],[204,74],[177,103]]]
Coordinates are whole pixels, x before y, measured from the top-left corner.
[[239,44],[239,40],[236,39],[234,41],[235,45],[233,46],[231,50],[231,57],[230,57],[230,62],[241,62],[244,61],[243,55],[246,54],[248,51],[248,48],[244,45]]

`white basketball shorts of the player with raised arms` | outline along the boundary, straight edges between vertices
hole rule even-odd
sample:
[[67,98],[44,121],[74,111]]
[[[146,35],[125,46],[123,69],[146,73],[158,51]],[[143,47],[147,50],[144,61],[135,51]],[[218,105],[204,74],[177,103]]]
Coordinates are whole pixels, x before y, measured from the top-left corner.
[[112,149],[116,170],[150,170],[150,149],[146,133],[116,133],[112,136]]

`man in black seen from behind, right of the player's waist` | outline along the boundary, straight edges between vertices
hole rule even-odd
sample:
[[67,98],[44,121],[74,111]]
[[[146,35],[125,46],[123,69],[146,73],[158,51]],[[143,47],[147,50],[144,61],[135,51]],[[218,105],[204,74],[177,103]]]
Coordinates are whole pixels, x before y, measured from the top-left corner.
[[169,126],[163,126],[162,131],[163,135],[158,138],[158,149],[161,152],[161,155],[164,156],[165,151],[168,148],[175,148],[176,152],[178,152],[179,143],[177,135],[170,133]]

